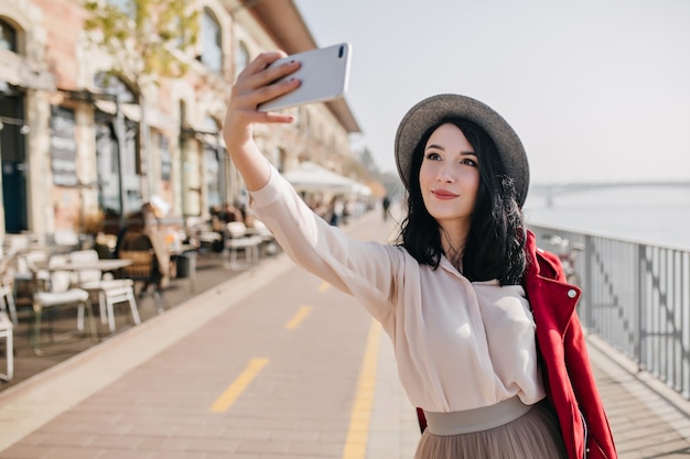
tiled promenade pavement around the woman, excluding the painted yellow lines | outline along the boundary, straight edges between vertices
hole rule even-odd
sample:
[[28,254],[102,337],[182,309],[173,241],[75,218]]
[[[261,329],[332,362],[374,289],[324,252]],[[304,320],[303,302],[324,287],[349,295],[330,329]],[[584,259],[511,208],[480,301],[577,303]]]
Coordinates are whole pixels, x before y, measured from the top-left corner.
[[[388,230],[377,217],[365,216],[347,230],[382,239]],[[229,274],[217,266],[201,276],[211,282]],[[313,277],[284,255],[230,277],[197,286],[196,295],[165,315],[0,392],[0,458],[345,458],[353,424],[342,407],[352,404],[368,317],[342,306],[352,303],[345,295],[326,293],[311,327],[303,327],[304,334],[322,334],[314,346],[313,337],[278,331],[284,317],[271,309],[276,302],[323,298],[293,298],[317,285]],[[378,342],[368,435],[359,440],[367,458],[411,458],[419,438],[414,413],[398,384],[388,340]],[[690,456],[690,403],[636,372],[596,337],[589,342],[619,457]],[[197,405],[209,405],[226,373],[239,373],[244,367],[236,363],[254,351],[277,358],[233,415],[200,413]]]

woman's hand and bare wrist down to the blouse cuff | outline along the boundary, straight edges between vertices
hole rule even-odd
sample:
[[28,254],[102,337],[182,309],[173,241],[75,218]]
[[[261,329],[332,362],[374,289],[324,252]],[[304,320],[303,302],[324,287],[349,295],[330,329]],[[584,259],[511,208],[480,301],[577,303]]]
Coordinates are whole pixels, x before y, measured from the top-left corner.
[[300,63],[294,61],[268,68],[281,57],[285,57],[285,53],[262,53],[238,75],[223,123],[225,147],[250,192],[262,187],[270,176],[268,161],[254,142],[251,124],[289,123],[293,120],[288,114],[257,110],[260,103],[300,86],[300,81],[294,78],[276,83],[300,68]]

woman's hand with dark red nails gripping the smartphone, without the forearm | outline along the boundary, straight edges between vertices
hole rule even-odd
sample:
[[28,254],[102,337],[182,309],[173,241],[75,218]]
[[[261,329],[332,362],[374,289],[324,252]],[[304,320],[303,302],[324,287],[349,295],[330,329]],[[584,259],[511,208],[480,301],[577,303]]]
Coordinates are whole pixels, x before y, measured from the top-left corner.
[[238,75],[223,124],[223,136],[228,150],[251,142],[252,123],[289,123],[293,117],[278,112],[263,112],[257,107],[300,86],[298,79],[273,83],[300,67],[295,61],[268,68],[279,58],[282,51],[261,53]]

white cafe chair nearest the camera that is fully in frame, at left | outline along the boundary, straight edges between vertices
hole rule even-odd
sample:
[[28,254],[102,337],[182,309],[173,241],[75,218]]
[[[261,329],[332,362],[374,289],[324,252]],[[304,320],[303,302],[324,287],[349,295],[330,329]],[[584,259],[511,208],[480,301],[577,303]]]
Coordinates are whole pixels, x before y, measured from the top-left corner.
[[[52,309],[76,307],[77,331],[79,334],[84,332],[84,313],[86,312],[90,338],[97,340],[96,327],[94,326],[90,303],[88,300],[89,293],[83,288],[71,287],[72,273],[60,270],[60,266],[66,264],[66,255],[51,256],[48,261],[51,275],[47,283],[37,278],[37,267],[31,262],[28,263],[30,270],[34,273],[33,312],[35,320],[33,332],[30,331],[29,334],[29,342],[37,356],[43,354],[43,351],[40,349],[43,314]],[[52,342],[54,341],[52,340]]]

